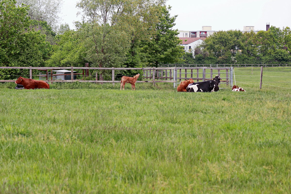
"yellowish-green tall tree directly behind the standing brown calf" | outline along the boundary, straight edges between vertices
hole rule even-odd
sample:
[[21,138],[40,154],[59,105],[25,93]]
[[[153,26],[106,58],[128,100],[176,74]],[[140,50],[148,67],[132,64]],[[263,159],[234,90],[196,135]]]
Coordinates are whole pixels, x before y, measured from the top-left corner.
[[[141,42],[150,39],[155,31],[151,28],[152,24],[159,22],[159,17],[156,14],[159,11],[159,6],[164,1],[144,1],[135,0],[130,2],[130,6],[126,6],[123,14],[119,17],[119,22],[122,26],[127,26],[126,31],[130,36],[130,47],[126,55],[126,60],[123,63],[125,67],[144,67],[148,65],[144,54],[141,53]],[[123,75],[134,75],[141,73],[140,70],[125,70],[120,72]]]

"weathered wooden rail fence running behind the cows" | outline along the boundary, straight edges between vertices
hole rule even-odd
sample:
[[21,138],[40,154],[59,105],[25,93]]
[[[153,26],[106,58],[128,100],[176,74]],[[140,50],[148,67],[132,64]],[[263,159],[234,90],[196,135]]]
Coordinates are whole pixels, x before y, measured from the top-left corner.
[[[74,82],[74,81],[79,81],[79,82],[95,82],[95,83],[112,83],[113,85],[115,83],[120,83],[120,81],[115,80],[115,70],[143,70],[143,76],[144,76],[144,81],[136,81],[136,83],[143,83],[143,82],[148,82],[148,83],[173,83],[173,87],[176,87],[178,84],[178,78],[181,82],[182,79],[189,79],[192,78],[197,81],[206,81],[212,79],[213,74],[226,74],[225,77],[222,77],[221,83],[226,83],[227,85],[230,84],[233,86],[232,82],[232,72],[233,72],[233,67],[226,67],[226,68],[209,68],[209,67],[198,67],[198,68],[189,68],[189,67],[145,67],[145,68],[100,68],[100,67],[44,67],[43,69],[40,67],[0,67],[0,69],[29,69],[29,78],[32,79],[32,70],[60,70],[60,69],[65,69],[65,70],[71,70],[70,74],[63,74],[63,75],[71,75],[70,80],[53,80],[53,76],[59,75],[59,74],[52,74],[51,75],[46,75],[46,82]],[[83,70],[83,73],[74,73],[74,70],[81,69]],[[111,70],[112,71],[112,80],[98,80],[98,75],[96,72],[96,80],[74,80],[73,77],[74,75],[83,75],[84,77],[84,70]],[[185,72],[181,72],[184,70]],[[193,72],[194,70],[194,72]],[[206,70],[210,70],[210,73],[207,73]],[[213,70],[217,70],[218,72],[213,72]],[[221,72],[221,70],[224,70],[225,72]],[[179,72],[178,72],[179,71]],[[202,71],[202,72],[200,72]],[[182,74],[184,76],[182,76]],[[193,76],[195,75],[195,77]],[[202,74],[202,77],[199,76],[199,74]],[[210,77],[207,77],[207,75],[210,75]],[[88,75],[88,73],[86,73]],[[189,76],[188,76],[189,75]],[[34,75],[35,76],[35,75]],[[36,75],[36,76],[44,76],[42,75]],[[178,77],[179,76],[179,77]],[[50,79],[49,79],[50,77]],[[225,80],[224,80],[225,79]],[[15,82],[15,80],[0,80],[0,82]],[[180,83],[179,82],[179,83]]]

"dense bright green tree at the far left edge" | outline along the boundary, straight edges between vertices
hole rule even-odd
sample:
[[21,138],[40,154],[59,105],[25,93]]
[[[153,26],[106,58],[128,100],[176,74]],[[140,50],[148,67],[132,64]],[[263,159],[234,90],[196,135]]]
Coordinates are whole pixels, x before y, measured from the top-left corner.
[[[0,65],[40,67],[49,57],[50,45],[45,35],[31,31],[28,7],[16,6],[15,0],[0,1]],[[1,79],[13,78],[26,70],[1,69]]]

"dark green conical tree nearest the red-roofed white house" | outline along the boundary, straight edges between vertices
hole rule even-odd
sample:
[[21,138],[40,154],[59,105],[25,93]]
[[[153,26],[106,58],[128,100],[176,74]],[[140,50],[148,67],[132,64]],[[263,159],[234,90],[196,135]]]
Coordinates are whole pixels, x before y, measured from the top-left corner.
[[152,24],[151,29],[155,34],[148,40],[142,42],[141,52],[145,54],[146,61],[149,65],[157,67],[160,64],[173,63],[182,56],[183,47],[180,44],[177,30],[173,30],[177,15],[170,17],[169,10],[166,6],[159,6],[159,22]]

